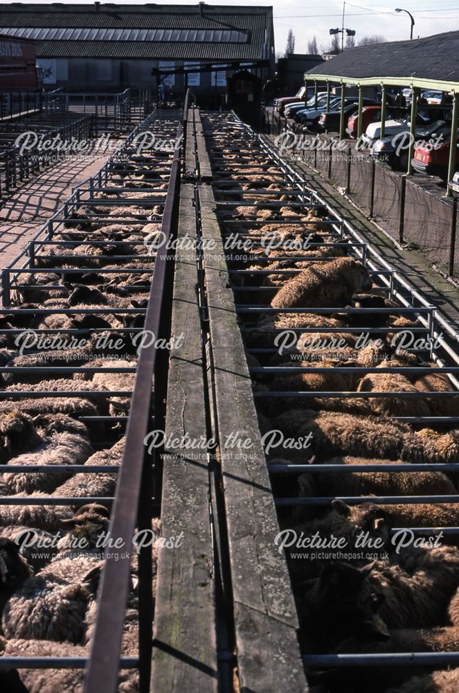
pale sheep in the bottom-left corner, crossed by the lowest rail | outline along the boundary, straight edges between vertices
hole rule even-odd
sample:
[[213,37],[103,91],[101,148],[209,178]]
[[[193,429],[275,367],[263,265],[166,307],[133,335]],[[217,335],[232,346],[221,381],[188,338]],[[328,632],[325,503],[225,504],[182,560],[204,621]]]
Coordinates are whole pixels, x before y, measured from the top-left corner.
[[[82,645],[30,638],[1,638],[0,651],[6,657],[87,657],[89,654],[88,648]],[[83,690],[83,669],[19,669],[19,672],[23,687],[8,687],[4,689],[6,693],[82,693]],[[16,678],[10,676],[9,680],[16,684]],[[118,680],[118,693],[138,693],[135,670],[121,670]]]

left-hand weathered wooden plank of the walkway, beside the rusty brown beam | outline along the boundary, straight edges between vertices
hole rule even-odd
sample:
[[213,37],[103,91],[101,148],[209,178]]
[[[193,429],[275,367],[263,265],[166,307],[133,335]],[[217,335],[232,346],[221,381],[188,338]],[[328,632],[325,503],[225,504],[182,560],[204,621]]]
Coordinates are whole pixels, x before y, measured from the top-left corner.
[[[194,186],[181,190],[179,238],[196,237]],[[177,249],[172,337],[183,335],[171,353],[165,435],[205,440],[201,325],[195,252]],[[215,587],[209,515],[208,455],[205,449],[165,446],[162,535],[183,534],[179,547],[159,553],[154,617],[152,687],[155,693],[216,693]]]

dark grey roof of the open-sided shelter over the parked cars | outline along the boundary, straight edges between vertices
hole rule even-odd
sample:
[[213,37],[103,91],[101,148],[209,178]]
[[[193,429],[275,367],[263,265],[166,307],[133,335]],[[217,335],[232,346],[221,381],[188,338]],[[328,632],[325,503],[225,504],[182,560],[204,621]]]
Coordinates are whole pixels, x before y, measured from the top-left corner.
[[346,49],[309,72],[351,78],[417,77],[459,81],[459,31]]

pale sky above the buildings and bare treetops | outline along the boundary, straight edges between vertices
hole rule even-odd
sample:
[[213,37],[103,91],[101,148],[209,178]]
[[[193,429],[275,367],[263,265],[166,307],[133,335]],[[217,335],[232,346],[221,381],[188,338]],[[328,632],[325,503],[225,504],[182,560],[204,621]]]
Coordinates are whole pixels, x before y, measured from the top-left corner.
[[[1,0],[0,0],[1,1]],[[62,1],[62,0],[61,0]],[[113,1],[113,0],[112,0]],[[355,0],[359,2],[360,0]],[[30,0],[29,0],[30,2]],[[32,0],[34,2],[34,0]],[[78,2],[78,0],[75,0]],[[91,3],[91,0],[80,0]],[[103,0],[102,0],[103,2]],[[196,5],[197,0],[159,0],[161,4]],[[388,41],[401,41],[410,37],[411,21],[405,12],[394,12],[397,2],[411,12],[415,19],[413,37],[430,36],[444,31],[459,30],[459,0],[361,0],[345,3],[345,28],[356,31],[356,42],[368,35],[382,35]],[[43,4],[43,0],[37,0]],[[141,5],[142,0],[126,0],[129,5]],[[121,3],[122,4],[122,3]],[[307,44],[314,35],[319,48],[330,43],[330,28],[342,25],[343,2],[339,0],[219,0],[209,5],[273,6],[276,53],[284,53],[289,28],[295,35],[295,53],[307,53]],[[458,46],[459,49],[459,46]]]

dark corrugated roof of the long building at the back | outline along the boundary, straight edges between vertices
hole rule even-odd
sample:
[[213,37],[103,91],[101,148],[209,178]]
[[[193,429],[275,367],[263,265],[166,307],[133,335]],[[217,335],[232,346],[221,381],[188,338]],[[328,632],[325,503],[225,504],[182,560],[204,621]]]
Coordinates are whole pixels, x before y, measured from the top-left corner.
[[[273,44],[273,8],[206,5],[0,5],[3,28],[235,28],[249,31],[247,43],[63,41],[35,42],[38,58],[143,58],[265,60]],[[269,49],[268,49],[269,50]]]

